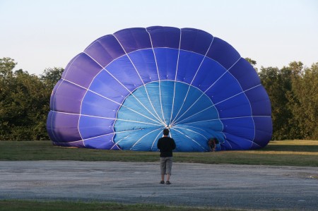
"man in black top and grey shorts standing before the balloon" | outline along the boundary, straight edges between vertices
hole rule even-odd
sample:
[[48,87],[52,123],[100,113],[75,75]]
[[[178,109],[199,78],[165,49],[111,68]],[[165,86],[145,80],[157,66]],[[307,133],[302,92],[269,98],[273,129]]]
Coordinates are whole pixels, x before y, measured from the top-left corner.
[[[163,130],[163,137],[159,138],[157,147],[160,150],[160,170],[161,170],[161,184],[166,183],[170,185],[170,175],[172,168],[172,150],[175,150],[175,140],[168,137],[169,129]],[[165,181],[165,174],[167,174],[167,181]]]

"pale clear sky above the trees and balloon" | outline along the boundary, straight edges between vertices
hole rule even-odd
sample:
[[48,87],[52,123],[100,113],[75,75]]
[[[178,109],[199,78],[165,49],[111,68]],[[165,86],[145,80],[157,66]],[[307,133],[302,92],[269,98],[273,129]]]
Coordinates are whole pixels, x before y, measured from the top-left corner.
[[0,0],[0,58],[40,75],[98,37],[153,25],[197,28],[257,67],[318,62],[317,0]]

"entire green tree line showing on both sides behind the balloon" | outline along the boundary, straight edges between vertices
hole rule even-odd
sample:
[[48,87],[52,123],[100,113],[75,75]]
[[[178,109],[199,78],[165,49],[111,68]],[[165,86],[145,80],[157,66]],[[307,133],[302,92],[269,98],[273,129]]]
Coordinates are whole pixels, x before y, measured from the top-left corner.
[[[46,68],[36,76],[15,70],[16,64],[0,59],[0,140],[49,140],[49,100],[64,69]],[[271,100],[272,140],[318,140],[318,62],[305,67],[293,61],[281,69],[262,66],[255,71]]]

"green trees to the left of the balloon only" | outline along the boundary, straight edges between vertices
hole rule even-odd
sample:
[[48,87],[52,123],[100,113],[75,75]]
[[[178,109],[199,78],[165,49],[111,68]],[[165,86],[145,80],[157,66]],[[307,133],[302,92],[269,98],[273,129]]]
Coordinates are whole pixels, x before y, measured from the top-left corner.
[[13,71],[13,59],[0,61],[0,140],[48,140],[49,98],[63,69],[48,68],[39,78]]

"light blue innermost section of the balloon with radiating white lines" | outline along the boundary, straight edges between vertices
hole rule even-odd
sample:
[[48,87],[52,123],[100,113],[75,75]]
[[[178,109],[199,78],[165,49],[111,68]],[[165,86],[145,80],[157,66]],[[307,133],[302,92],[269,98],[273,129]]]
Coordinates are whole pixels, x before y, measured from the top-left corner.
[[117,112],[113,140],[122,150],[156,151],[156,140],[165,128],[177,143],[183,143],[177,151],[206,151],[206,138],[223,126],[203,90],[160,80],[141,85],[126,97]]

